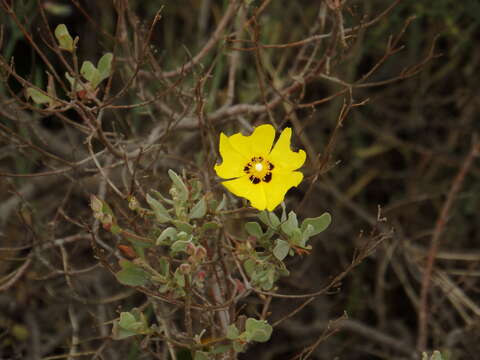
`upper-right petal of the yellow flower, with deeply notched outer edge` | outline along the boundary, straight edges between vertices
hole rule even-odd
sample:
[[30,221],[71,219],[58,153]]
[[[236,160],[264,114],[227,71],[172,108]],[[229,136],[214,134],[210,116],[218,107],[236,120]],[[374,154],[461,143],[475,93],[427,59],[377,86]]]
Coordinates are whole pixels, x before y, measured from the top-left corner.
[[292,129],[285,128],[273,147],[268,159],[275,165],[280,165],[283,170],[296,170],[303,165],[307,155],[305,151],[292,151],[290,148],[290,139]]

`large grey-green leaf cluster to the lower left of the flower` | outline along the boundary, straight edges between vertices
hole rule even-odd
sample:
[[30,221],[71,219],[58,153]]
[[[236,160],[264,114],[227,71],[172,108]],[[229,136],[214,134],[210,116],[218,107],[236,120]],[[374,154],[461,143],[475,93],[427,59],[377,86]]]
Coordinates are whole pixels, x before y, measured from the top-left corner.
[[[129,208],[153,222],[147,236],[120,228],[111,208],[95,196],[91,197],[91,208],[106,230],[121,234],[133,247],[136,258],[119,262],[117,280],[128,286],[153,285],[160,294],[180,298],[186,295],[187,284],[203,288],[206,272],[202,264],[207,250],[202,241],[210,230],[219,228],[210,220],[208,209],[220,206],[213,200],[207,201],[200,181],[186,182],[173,170],[168,175],[172,181],[170,198],[153,191],[146,196],[150,208],[141,207],[134,197],[129,198]],[[147,249],[163,249],[166,254],[152,261],[145,253]]]

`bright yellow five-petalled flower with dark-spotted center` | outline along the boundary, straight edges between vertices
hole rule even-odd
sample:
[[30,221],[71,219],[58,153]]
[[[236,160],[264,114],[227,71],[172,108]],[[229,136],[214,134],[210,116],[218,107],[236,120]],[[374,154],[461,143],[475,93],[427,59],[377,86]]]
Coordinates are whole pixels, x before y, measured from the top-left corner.
[[223,162],[215,165],[215,171],[223,179],[233,179],[223,181],[223,186],[250,200],[258,210],[275,209],[285,193],[303,179],[303,174],[294,170],[303,165],[306,154],[290,149],[291,137],[292,129],[284,129],[272,149],[275,129],[269,124],[256,127],[250,136],[221,133]]

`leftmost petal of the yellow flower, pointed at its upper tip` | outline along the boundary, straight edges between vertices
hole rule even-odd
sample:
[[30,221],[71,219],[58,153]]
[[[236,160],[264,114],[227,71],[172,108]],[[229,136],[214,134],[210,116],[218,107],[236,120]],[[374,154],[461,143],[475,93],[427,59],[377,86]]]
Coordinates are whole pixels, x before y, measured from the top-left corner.
[[230,143],[224,133],[220,134],[220,155],[222,156],[222,163],[215,165],[215,172],[218,176],[224,179],[237,178],[245,175],[243,167],[248,162],[247,158],[239,153]]

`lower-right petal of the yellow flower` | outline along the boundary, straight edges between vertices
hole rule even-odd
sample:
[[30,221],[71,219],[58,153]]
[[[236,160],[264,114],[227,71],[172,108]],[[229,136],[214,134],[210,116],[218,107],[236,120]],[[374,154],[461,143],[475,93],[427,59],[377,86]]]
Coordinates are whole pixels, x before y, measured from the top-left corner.
[[267,210],[273,211],[283,201],[287,191],[300,184],[302,180],[303,174],[299,171],[285,173],[273,171],[272,180],[264,185]]

